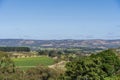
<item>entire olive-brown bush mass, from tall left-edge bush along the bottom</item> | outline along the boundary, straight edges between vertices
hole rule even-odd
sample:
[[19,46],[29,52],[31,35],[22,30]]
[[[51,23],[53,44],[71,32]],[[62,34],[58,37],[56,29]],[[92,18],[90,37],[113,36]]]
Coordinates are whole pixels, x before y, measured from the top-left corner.
[[7,53],[0,52],[0,80],[56,80],[57,76],[57,71],[45,66],[19,70]]

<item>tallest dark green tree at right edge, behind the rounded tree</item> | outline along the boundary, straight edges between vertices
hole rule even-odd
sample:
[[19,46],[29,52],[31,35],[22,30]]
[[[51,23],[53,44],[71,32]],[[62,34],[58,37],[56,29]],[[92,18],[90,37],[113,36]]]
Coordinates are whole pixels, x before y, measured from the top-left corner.
[[92,58],[101,58],[101,69],[106,72],[108,76],[114,75],[120,69],[120,59],[115,51],[108,49],[96,55],[91,55]]

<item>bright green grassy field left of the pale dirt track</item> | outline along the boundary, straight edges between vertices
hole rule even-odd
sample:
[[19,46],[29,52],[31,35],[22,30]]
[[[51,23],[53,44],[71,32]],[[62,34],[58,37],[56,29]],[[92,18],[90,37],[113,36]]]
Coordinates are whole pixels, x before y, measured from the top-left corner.
[[30,57],[30,58],[13,58],[12,59],[18,68],[28,69],[38,65],[49,66],[54,64],[54,60],[50,57]]

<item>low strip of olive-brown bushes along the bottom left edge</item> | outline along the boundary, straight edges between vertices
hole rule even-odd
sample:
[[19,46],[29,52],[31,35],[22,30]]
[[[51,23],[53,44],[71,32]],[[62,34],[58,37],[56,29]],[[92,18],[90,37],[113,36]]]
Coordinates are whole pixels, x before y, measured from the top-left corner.
[[27,71],[16,70],[14,73],[0,74],[0,80],[57,80],[58,76],[55,70],[38,66]]

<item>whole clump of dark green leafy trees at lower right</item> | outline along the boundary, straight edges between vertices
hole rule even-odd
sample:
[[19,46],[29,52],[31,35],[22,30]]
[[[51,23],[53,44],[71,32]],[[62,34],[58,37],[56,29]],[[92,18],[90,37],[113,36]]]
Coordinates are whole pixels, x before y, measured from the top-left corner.
[[115,75],[120,68],[120,60],[113,50],[106,50],[90,57],[68,62],[61,80],[104,80]]

